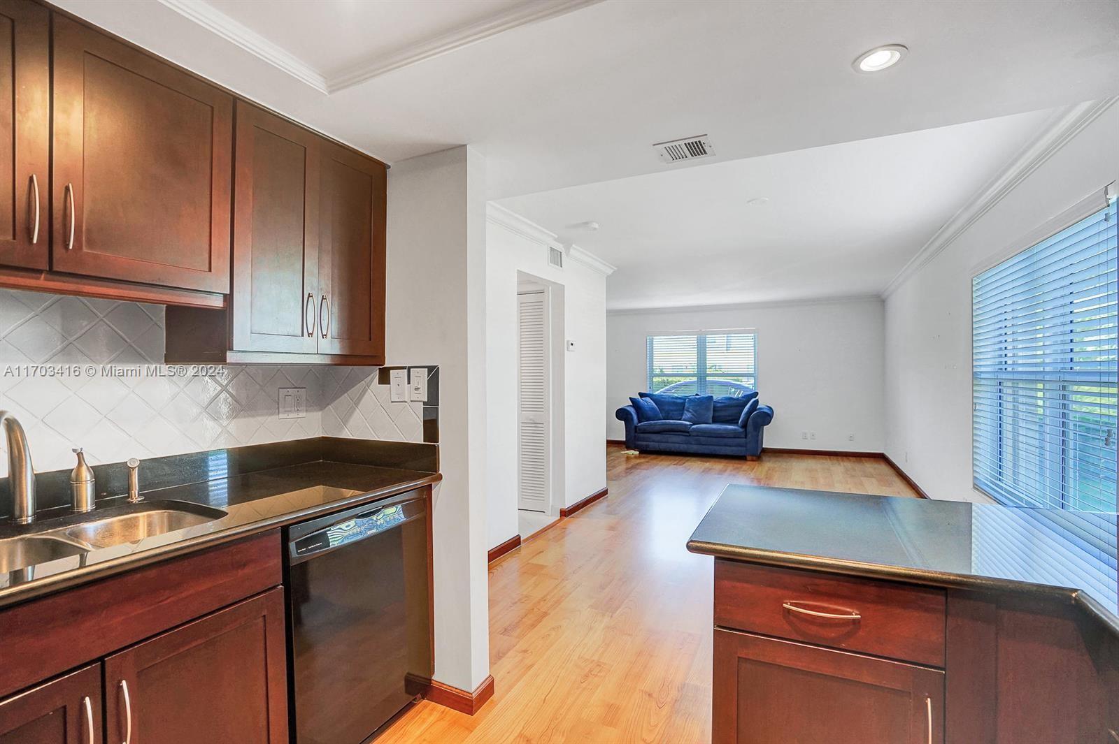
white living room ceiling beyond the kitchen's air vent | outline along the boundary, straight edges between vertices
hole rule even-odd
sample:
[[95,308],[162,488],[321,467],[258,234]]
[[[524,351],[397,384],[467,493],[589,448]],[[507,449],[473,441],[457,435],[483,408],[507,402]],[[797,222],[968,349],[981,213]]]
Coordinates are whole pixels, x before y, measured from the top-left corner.
[[[877,295],[1055,112],[638,175],[499,203],[618,270],[610,309]],[[768,198],[764,204],[747,200]],[[598,231],[582,226],[600,223]]]

